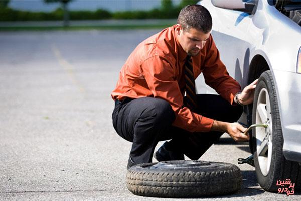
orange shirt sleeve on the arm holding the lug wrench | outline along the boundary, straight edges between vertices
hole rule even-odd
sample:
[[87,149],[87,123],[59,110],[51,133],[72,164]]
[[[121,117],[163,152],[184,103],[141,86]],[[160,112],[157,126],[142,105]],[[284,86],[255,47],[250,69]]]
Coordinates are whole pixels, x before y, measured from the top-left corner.
[[183,106],[183,95],[175,79],[172,64],[162,56],[153,56],[141,64],[141,70],[154,97],[167,100],[175,111],[176,119],[173,126],[190,132],[210,131],[213,119],[194,113]]

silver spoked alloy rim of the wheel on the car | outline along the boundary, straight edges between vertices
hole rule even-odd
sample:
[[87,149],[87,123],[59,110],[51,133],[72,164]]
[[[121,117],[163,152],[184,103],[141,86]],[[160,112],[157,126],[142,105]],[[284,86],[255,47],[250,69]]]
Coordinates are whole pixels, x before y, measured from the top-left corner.
[[259,167],[263,176],[267,176],[272,159],[272,113],[268,91],[262,88],[258,95],[256,124],[267,124],[268,127],[256,127],[256,152]]

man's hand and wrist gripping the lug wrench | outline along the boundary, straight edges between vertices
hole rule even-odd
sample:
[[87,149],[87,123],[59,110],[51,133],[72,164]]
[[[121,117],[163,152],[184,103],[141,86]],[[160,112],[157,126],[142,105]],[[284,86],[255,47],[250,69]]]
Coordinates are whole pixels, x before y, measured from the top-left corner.
[[211,130],[226,132],[237,142],[248,141],[250,138],[249,135],[243,134],[246,128],[236,122],[228,123],[214,120]]

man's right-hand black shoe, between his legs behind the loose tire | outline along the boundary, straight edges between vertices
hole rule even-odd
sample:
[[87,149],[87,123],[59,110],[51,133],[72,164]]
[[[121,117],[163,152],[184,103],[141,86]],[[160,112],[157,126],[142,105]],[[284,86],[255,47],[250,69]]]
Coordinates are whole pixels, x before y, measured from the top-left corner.
[[154,154],[154,158],[160,161],[167,160],[184,160],[184,154],[166,149],[167,142],[165,142]]

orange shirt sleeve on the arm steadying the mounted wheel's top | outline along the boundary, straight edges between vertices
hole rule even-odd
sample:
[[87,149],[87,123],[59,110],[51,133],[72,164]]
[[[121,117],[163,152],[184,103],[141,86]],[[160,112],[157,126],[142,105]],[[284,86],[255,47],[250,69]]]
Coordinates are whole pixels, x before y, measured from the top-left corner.
[[219,51],[210,35],[208,51],[205,58],[203,75],[205,83],[228,100],[232,105],[235,104],[234,96],[241,91],[239,83],[233,79],[226,70],[226,66],[220,60]]

